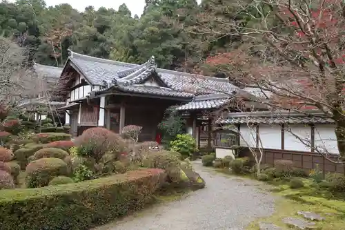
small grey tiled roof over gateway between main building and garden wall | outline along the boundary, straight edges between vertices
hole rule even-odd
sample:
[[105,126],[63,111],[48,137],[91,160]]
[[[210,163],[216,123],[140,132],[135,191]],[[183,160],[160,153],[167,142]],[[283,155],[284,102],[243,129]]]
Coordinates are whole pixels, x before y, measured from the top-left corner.
[[197,96],[192,102],[177,107],[178,111],[194,111],[199,109],[220,108],[229,102],[228,95],[213,94]]

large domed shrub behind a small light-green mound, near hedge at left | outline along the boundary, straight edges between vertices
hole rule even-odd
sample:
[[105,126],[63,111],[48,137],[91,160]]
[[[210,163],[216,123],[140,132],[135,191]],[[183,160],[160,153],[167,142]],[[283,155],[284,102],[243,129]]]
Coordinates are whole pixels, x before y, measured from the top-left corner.
[[28,188],[46,186],[52,178],[68,174],[68,166],[63,160],[53,157],[41,158],[30,162],[26,167],[26,185]]

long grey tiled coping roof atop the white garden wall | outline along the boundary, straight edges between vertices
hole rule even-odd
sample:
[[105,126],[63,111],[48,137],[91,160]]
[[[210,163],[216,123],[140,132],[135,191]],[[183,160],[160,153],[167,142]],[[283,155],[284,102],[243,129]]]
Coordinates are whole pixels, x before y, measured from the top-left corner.
[[291,111],[260,111],[248,113],[228,113],[220,124],[333,124],[331,118],[319,111],[296,113]]

